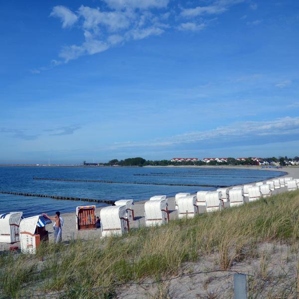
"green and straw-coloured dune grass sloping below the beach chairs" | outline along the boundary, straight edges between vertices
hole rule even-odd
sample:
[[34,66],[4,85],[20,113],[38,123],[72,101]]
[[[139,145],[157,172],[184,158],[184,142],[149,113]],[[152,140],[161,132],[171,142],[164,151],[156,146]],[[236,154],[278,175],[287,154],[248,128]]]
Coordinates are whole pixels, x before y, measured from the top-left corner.
[[[3,298],[66,292],[61,298],[113,298],[115,284],[179,274],[184,262],[216,254],[217,266],[256,255],[261,241],[299,239],[299,191],[240,207],[171,220],[122,237],[41,246],[35,256],[0,255]],[[266,276],[266,270],[261,269]],[[102,288],[93,291],[86,289]]]

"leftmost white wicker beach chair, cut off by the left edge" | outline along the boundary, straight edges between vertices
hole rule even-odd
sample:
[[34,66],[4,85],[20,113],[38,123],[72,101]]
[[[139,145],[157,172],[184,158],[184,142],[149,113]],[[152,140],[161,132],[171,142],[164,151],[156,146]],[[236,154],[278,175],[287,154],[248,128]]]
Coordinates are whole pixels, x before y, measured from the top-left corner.
[[19,242],[19,225],[23,212],[0,214],[0,243]]

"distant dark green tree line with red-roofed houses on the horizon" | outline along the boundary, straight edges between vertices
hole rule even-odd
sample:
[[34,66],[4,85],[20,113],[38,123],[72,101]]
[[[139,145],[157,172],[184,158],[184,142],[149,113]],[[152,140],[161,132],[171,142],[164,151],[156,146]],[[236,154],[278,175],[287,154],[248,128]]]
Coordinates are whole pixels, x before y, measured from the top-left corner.
[[[287,160],[295,160],[299,161],[299,157],[295,156],[294,158],[285,157],[270,157],[270,158],[263,158],[263,160],[268,161],[279,161],[281,165],[286,165]],[[84,161],[84,164],[86,161]],[[90,163],[93,164],[93,163]],[[258,161],[252,160],[251,157],[248,157],[245,160],[237,160],[233,157],[227,158],[227,162],[220,162],[212,160],[208,163],[202,160],[197,161],[171,161],[171,160],[146,160],[142,157],[135,157],[135,158],[127,158],[124,160],[112,159],[108,163],[94,163],[97,165],[105,165],[105,166],[179,166],[179,165],[258,165]]]

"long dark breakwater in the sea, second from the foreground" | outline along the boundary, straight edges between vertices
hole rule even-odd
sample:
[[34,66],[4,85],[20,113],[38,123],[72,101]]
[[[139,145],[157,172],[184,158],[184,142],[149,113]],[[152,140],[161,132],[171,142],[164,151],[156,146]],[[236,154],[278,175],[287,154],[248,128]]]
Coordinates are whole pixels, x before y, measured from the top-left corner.
[[187,187],[214,187],[224,188],[226,185],[207,185],[207,184],[178,184],[178,183],[155,183],[155,182],[123,182],[100,179],[76,179],[76,178],[51,178],[51,177],[33,177],[35,180],[63,181],[63,182],[86,182],[103,184],[138,184],[138,185],[164,185],[164,186],[187,186]]

